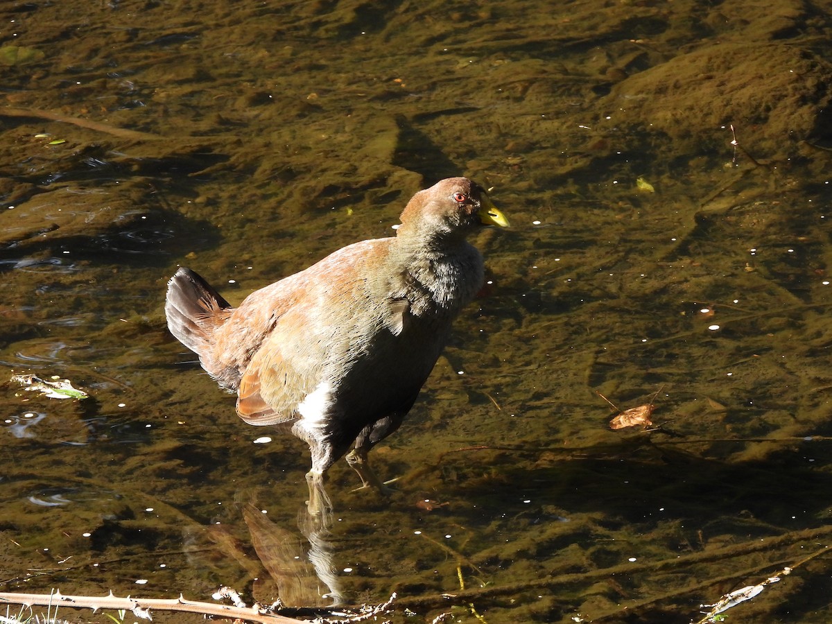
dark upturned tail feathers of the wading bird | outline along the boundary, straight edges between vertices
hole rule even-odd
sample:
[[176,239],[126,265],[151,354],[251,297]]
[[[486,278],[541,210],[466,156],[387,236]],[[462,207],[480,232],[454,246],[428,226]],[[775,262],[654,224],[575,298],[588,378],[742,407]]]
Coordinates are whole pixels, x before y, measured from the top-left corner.
[[206,280],[184,266],[167,283],[167,329],[197,355],[206,354],[211,334],[228,318],[230,308]]

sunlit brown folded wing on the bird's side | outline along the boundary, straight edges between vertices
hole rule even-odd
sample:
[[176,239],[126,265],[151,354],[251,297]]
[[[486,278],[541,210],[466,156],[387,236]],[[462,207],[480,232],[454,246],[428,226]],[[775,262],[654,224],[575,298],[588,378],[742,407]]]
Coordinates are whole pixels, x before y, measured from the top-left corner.
[[239,319],[240,326],[229,332],[229,340],[240,340],[244,329],[250,330],[246,321],[267,328],[240,367],[240,418],[255,425],[289,422],[301,413],[323,418],[332,407],[331,392],[364,344],[364,334],[379,323],[387,324],[394,335],[402,331],[407,301],[395,302],[387,313],[392,318],[382,321],[373,318],[379,310],[367,300],[364,265],[387,241],[349,245],[257,291],[240,305],[233,319]]

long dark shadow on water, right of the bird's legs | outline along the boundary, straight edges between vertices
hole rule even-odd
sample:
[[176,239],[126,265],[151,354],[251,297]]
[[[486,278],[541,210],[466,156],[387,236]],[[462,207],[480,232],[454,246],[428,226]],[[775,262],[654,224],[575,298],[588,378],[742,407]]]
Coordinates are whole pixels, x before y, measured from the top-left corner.
[[[483,506],[488,501],[511,498],[520,493],[533,501],[532,508],[557,506],[574,513],[605,513],[611,524],[655,522],[656,518],[686,518],[698,531],[709,527],[710,510],[719,508],[727,522],[737,522],[749,532],[767,534],[787,526],[799,508],[805,518],[829,510],[825,499],[812,493],[829,486],[828,476],[813,471],[793,450],[773,453],[765,462],[726,463],[686,453],[661,442],[642,441],[622,445],[619,458],[593,457],[608,454],[587,449],[586,458],[557,460],[528,458],[532,468],[515,468],[517,454],[488,458],[499,466],[498,480],[488,480],[482,490],[466,484],[468,495]],[[572,452],[574,454],[574,452]],[[534,468],[535,464],[541,466]],[[551,466],[547,466],[551,464]],[[459,470],[464,470],[460,467]],[[491,503],[493,505],[493,503]],[[725,518],[719,519],[726,522]],[[754,528],[754,525],[757,525]],[[721,527],[719,530],[727,530]],[[693,532],[691,540],[696,541]],[[555,548],[557,550],[557,547]]]

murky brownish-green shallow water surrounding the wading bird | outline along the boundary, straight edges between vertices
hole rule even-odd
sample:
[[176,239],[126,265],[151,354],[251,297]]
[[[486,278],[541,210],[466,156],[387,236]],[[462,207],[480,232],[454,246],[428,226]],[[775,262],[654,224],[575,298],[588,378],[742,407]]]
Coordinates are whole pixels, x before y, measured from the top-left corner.
[[[88,4],[0,8],[0,373],[91,394],[2,386],[0,591],[696,622],[790,566],[729,621],[830,620],[829,2]],[[305,445],[166,281],[239,301],[456,175],[513,229],[316,573]]]

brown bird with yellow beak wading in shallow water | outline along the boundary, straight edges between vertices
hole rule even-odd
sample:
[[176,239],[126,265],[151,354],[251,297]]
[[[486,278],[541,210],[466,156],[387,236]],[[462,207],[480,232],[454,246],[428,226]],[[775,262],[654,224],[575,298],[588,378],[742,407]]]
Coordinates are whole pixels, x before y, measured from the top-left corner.
[[292,423],[310,445],[313,514],[331,508],[325,473],[350,447],[362,487],[385,491],[367,453],[399,428],[453,319],[483,285],[483,257],[466,236],[508,225],[466,178],[419,191],[401,220],[394,237],[348,245],[238,308],[184,267],[168,284],[171,333],[236,391],[237,414]]

